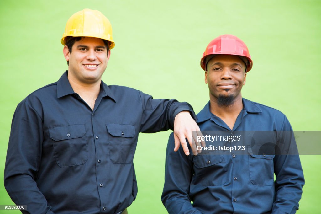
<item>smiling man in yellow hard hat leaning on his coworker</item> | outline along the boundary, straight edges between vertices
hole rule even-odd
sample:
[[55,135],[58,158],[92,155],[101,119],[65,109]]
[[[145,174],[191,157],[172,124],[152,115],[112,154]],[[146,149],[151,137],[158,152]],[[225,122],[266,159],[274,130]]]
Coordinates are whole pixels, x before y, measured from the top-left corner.
[[5,188],[25,213],[126,213],[137,194],[138,133],[174,128],[175,150],[181,143],[189,155],[195,114],[188,103],[101,81],[115,43],[99,11],[72,15],[61,43],[68,70],[14,112]]

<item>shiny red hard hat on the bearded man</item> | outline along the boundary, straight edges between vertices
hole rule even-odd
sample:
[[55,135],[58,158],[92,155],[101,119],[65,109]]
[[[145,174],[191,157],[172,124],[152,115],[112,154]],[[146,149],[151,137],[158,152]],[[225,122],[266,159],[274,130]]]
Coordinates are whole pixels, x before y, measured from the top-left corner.
[[206,47],[201,58],[201,67],[206,71],[206,57],[213,54],[230,54],[247,58],[247,69],[249,72],[253,66],[251,55],[246,44],[238,37],[225,34],[213,39]]

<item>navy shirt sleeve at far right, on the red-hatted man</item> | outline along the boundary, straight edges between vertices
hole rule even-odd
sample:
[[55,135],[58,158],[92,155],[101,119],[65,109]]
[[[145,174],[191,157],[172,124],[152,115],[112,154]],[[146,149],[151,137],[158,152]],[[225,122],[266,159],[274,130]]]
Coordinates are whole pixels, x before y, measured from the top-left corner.
[[292,214],[299,209],[299,201],[304,185],[304,176],[299,155],[293,155],[297,149],[294,134],[288,119],[284,116],[281,143],[288,143],[290,155],[277,155],[274,161],[275,192],[276,198],[273,203],[273,214]]

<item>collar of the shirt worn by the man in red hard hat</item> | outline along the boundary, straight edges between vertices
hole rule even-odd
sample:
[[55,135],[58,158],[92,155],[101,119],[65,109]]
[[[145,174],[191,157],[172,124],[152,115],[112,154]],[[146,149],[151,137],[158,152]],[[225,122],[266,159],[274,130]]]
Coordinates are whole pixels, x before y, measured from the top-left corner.
[[[242,98],[242,102],[243,102],[243,109],[247,111],[247,113],[262,112],[256,103],[249,101],[245,98]],[[210,111],[210,101],[204,106],[204,108],[196,116],[197,116],[197,122],[204,122],[205,120],[211,119],[213,114]]]

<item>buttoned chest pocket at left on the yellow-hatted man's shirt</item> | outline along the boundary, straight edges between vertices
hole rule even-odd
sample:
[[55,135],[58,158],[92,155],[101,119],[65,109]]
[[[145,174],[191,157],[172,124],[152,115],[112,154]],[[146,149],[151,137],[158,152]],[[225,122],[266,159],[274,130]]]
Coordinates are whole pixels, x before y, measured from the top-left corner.
[[53,140],[54,156],[60,167],[85,164],[88,160],[88,145],[84,138],[85,125],[58,126],[49,129]]

